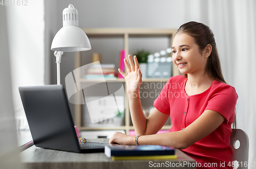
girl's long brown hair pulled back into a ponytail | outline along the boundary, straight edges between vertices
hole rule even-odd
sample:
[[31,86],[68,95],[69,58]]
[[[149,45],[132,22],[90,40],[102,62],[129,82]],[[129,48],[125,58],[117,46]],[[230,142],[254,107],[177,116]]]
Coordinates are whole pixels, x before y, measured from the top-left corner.
[[[205,49],[207,44],[211,45],[211,54],[207,59],[206,63],[206,74],[208,74],[210,77],[218,80],[219,82],[225,83],[224,77],[222,75],[221,70],[221,63],[219,59],[219,54],[214,38],[214,33],[210,30],[210,28],[203,23],[190,21],[187,23],[184,23],[180,28],[177,30],[176,34],[185,33],[191,37],[194,38],[196,44],[199,46],[199,52],[202,53],[202,51]],[[184,77],[187,78],[187,74],[184,74]],[[233,122],[233,128],[236,129],[237,126],[237,120],[236,120],[236,109],[234,113],[234,122]]]

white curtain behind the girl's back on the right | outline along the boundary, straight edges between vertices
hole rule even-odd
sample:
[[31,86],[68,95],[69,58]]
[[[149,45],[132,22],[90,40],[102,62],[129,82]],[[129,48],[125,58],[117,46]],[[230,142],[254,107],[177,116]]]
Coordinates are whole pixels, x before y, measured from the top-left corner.
[[256,1],[185,0],[182,3],[186,9],[184,22],[203,22],[215,34],[224,78],[239,95],[237,128],[248,134],[249,162],[256,162]]

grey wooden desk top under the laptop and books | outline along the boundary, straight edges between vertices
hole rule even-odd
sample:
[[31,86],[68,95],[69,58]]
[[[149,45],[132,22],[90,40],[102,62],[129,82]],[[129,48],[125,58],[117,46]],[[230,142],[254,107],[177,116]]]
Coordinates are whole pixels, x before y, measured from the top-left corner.
[[[97,142],[108,142],[109,139],[93,139],[89,141]],[[177,167],[171,168],[196,168],[192,167],[195,165],[195,160],[176,150],[178,158],[176,160],[118,160],[112,161],[111,158],[106,157],[104,153],[71,153],[56,150],[48,150],[37,148],[35,146],[20,153],[21,161],[24,164],[24,168],[54,168],[54,169],[65,169],[65,168],[97,168],[97,169],[121,169],[121,168],[132,168],[132,169],[143,169],[143,168],[161,168],[153,167],[162,164],[163,168],[171,167],[175,165]],[[150,162],[152,161],[152,162]],[[169,166],[166,165],[166,162]],[[171,162],[171,163],[170,163]],[[183,165],[183,162],[189,162],[191,166]],[[150,167],[152,166],[152,167]]]

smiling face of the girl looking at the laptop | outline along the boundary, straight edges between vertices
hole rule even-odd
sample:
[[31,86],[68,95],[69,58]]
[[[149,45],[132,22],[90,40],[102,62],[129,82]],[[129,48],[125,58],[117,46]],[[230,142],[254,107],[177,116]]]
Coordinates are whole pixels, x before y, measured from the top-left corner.
[[205,71],[206,55],[199,52],[199,46],[193,37],[180,33],[173,40],[173,62],[182,74],[199,74]]

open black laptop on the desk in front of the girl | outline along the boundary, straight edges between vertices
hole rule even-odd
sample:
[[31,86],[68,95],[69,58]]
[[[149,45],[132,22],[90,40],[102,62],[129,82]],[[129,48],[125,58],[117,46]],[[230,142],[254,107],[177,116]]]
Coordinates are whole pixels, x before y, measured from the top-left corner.
[[79,144],[67,95],[62,85],[19,87],[36,147],[76,153],[104,152],[109,143]]

